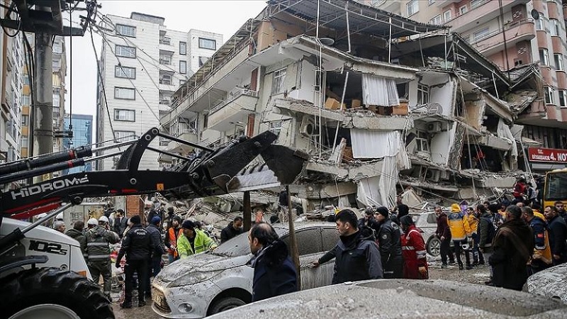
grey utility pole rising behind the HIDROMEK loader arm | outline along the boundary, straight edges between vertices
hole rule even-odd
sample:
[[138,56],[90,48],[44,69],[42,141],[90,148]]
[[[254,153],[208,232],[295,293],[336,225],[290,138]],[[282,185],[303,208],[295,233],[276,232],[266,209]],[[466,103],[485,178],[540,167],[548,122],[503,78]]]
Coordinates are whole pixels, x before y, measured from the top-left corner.
[[[52,35],[35,33],[35,89],[33,101],[33,150],[42,155],[53,152],[53,81]],[[34,182],[49,179],[50,175],[35,177]]]

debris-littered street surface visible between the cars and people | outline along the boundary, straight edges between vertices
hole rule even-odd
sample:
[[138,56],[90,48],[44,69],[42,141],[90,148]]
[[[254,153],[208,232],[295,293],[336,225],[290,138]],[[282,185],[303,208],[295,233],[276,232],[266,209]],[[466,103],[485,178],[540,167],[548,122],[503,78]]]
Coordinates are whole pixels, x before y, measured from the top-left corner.
[[[484,284],[484,281],[488,280],[489,270],[488,267],[475,267],[471,270],[459,270],[459,267],[449,266],[447,269],[441,269],[441,262],[433,260],[429,262],[430,264],[430,279],[444,279],[449,281],[466,282],[471,284]],[[113,308],[116,315],[116,319],[159,319],[159,315],[156,315],[151,306],[150,302],[147,306],[138,308],[134,307],[131,309],[120,309],[118,306],[119,293],[113,293]]]

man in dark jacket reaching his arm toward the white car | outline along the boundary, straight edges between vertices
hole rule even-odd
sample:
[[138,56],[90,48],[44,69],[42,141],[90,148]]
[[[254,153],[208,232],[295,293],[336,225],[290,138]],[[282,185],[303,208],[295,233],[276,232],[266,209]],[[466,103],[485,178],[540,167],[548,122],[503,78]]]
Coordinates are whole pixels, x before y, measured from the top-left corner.
[[[359,231],[357,214],[350,209],[339,211],[335,219],[339,241],[330,252],[335,256],[332,284],[381,279],[383,276],[382,263],[374,235],[364,236]],[[319,264],[318,261],[313,262],[314,267]]]

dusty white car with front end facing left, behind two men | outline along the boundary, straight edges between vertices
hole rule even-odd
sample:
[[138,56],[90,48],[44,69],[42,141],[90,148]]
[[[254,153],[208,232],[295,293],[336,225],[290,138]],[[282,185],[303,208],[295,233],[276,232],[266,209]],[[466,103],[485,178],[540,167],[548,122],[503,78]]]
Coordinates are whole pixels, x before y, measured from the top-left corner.
[[[274,229],[289,246],[288,225]],[[295,225],[301,264],[301,290],[331,284],[334,261],[308,264],[335,247],[335,223]],[[248,234],[223,243],[212,252],[181,259],[162,269],[152,284],[152,309],[165,318],[203,318],[252,301],[254,269]]]

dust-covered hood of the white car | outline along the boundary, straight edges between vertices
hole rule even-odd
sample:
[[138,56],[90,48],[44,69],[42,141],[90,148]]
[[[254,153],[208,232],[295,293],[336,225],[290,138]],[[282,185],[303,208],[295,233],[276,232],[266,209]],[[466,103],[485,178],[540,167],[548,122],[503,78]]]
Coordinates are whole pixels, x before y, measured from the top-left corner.
[[157,275],[156,279],[162,282],[170,282],[191,272],[215,272],[234,267],[239,267],[252,257],[252,254],[245,254],[236,257],[227,257],[214,252],[203,252],[195,254],[185,259],[179,259],[167,267],[164,267]]

